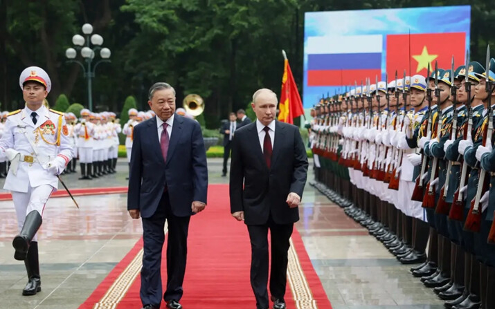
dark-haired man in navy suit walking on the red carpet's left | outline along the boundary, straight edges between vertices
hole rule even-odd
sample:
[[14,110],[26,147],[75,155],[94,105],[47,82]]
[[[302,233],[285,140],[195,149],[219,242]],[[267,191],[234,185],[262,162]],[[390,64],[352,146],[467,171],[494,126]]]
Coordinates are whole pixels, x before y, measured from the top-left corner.
[[[199,123],[174,113],[172,86],[154,84],[149,98],[156,117],[134,127],[127,209],[132,218],[143,218],[143,309],[160,308],[162,297],[167,308],[180,309],[190,216],[206,206],[206,151]],[[167,287],[162,295],[160,265],[165,221]]]

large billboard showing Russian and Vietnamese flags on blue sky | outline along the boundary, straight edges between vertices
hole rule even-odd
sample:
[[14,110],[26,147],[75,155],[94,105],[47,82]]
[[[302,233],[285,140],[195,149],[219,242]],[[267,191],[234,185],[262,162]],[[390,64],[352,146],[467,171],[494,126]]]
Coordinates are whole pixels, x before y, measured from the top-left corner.
[[343,93],[366,77],[375,82],[465,62],[470,6],[307,12],[304,35],[305,108]]

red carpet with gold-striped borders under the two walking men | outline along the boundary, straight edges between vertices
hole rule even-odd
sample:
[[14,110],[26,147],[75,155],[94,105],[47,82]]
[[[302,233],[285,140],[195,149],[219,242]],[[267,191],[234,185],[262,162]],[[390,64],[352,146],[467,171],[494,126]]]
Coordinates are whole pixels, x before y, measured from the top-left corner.
[[[193,216],[190,222],[181,304],[184,309],[254,309],[255,299],[249,283],[251,248],[246,226],[230,214],[228,185],[210,185],[208,196],[206,210]],[[296,230],[292,241],[285,294],[287,308],[332,308]],[[141,308],[138,272],[142,247],[140,240],[79,308]],[[165,269],[164,251],[163,286]],[[165,308],[164,303],[161,308]]]

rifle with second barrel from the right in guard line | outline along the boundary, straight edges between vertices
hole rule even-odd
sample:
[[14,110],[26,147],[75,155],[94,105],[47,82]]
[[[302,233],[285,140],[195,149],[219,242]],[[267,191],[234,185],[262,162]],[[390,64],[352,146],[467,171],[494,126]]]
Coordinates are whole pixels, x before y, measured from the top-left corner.
[[[469,82],[469,50],[466,51],[466,67],[465,67],[465,79],[464,86],[467,93],[467,126],[462,132],[462,138],[467,139],[467,136],[471,134],[473,129],[473,107],[471,106],[471,82]],[[462,154],[459,154],[458,161],[462,160]],[[464,220],[464,194],[461,189],[465,186],[467,178],[467,163],[462,162],[462,168],[460,172],[459,187],[456,193],[453,194],[453,202],[450,207],[449,219],[455,221]]]

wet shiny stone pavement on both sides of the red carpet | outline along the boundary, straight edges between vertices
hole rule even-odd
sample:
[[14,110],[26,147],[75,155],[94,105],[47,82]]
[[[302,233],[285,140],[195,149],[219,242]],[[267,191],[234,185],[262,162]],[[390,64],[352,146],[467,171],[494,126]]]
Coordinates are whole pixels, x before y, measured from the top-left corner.
[[[210,183],[228,183],[220,176],[221,159],[208,159],[208,170]],[[114,175],[62,178],[69,188],[115,187],[127,185],[126,176],[127,162],[119,160]],[[125,194],[76,198],[80,209],[70,198],[48,201],[39,231],[43,290],[33,297],[21,295],[26,270],[12,256],[17,232],[12,202],[0,202],[0,309],[78,308],[141,237],[141,221],[127,215]],[[309,185],[300,215],[296,227],[334,309],[443,308],[433,291],[409,274],[409,266]]]

